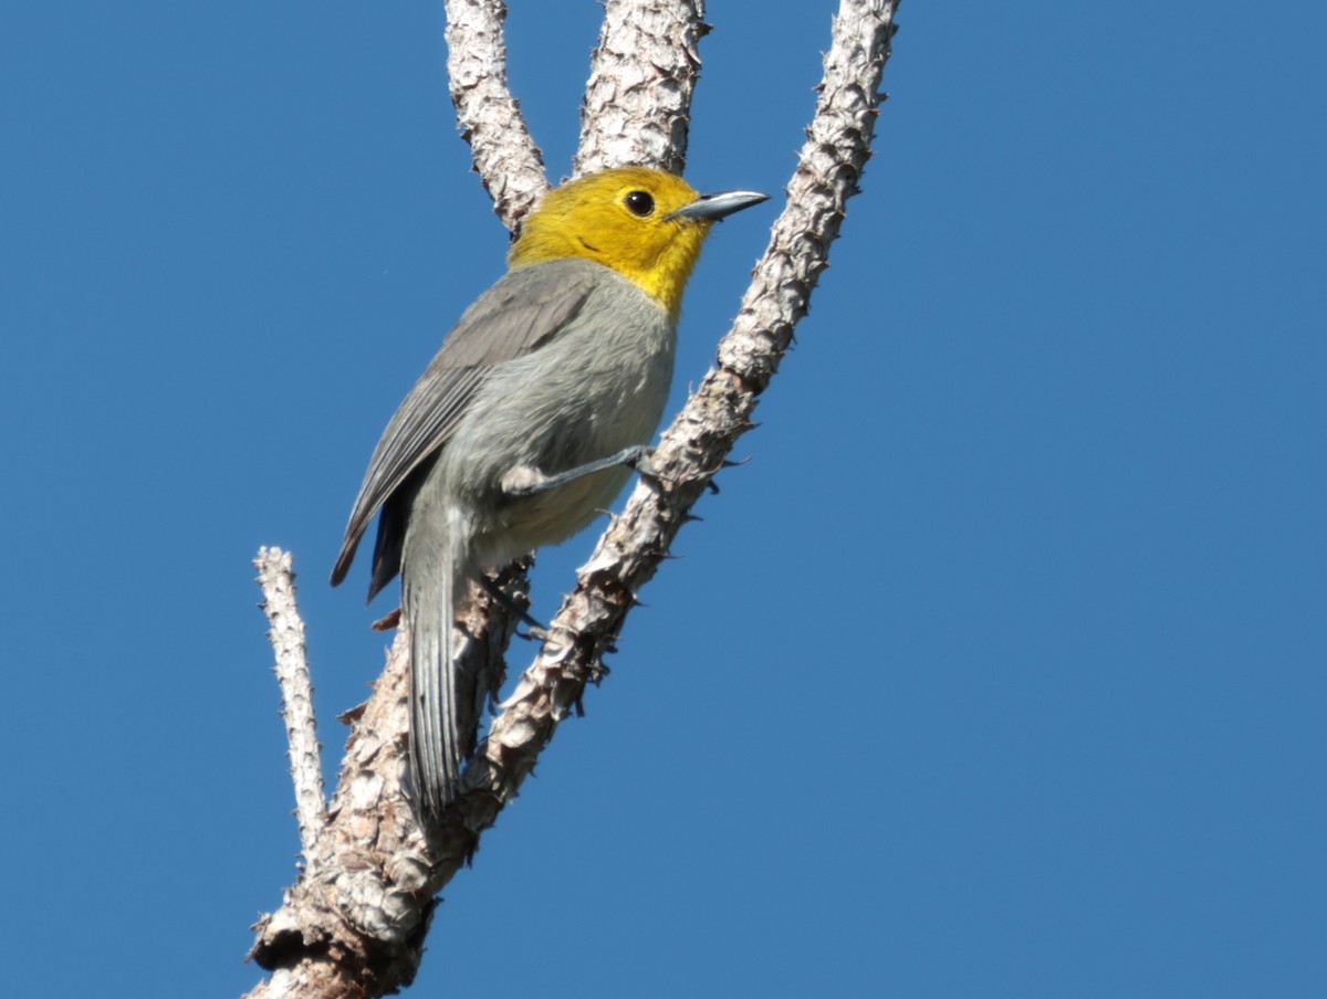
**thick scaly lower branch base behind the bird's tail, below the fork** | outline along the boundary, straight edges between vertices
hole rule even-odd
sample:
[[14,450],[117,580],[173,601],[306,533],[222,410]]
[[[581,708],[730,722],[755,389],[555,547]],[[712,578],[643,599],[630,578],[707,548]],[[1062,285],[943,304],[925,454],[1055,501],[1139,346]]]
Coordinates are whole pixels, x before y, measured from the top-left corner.
[[[458,618],[467,635],[462,658],[502,665],[512,620],[496,612],[491,601],[471,600]],[[409,695],[402,632],[373,695],[342,719],[353,728],[317,856],[281,907],[253,927],[249,958],[276,972],[249,992],[253,999],[386,995],[414,979],[434,896],[474,856],[500,804],[470,795],[425,838],[402,787]]]

